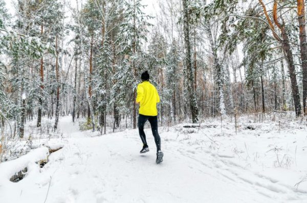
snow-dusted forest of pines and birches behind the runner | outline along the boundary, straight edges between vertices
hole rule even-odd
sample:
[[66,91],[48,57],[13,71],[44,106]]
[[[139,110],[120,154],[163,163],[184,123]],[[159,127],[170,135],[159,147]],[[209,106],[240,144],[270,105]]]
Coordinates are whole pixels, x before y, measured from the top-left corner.
[[42,117],[57,129],[65,115],[101,132],[136,128],[145,70],[161,95],[161,126],[306,114],[304,1],[167,0],[154,19],[140,0],[20,0],[16,16],[0,5],[0,125],[14,121],[13,136]]

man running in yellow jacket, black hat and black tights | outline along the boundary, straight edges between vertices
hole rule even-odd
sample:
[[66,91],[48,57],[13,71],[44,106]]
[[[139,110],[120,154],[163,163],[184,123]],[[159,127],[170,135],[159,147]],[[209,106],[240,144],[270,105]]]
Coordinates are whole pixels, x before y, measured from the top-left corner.
[[158,111],[157,103],[160,102],[160,97],[155,86],[149,82],[149,74],[147,71],[141,75],[142,82],[138,84],[136,103],[140,104],[138,127],[143,148],[140,153],[149,151],[146,136],[144,132],[144,124],[148,120],[151,126],[153,138],[155,138],[157,146],[157,160],[156,163],[163,162],[163,152],[161,151],[161,140],[158,133]]

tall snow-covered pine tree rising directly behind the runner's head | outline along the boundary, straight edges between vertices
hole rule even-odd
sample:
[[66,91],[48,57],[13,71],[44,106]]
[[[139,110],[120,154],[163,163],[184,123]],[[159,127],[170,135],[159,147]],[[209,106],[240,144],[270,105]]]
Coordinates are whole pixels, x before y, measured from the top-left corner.
[[[150,16],[145,15],[142,12],[144,6],[141,4],[141,0],[129,0],[124,2],[123,23],[120,26],[120,36],[118,42],[121,47],[121,54],[126,57],[122,62],[122,72],[127,73],[119,76],[118,82],[121,85],[127,85],[127,89],[133,90],[130,96],[132,98],[131,105],[133,105],[133,128],[137,126],[137,109],[136,109],[136,87],[138,83],[138,77],[142,72],[142,41],[147,40],[146,33],[150,24],[146,21]],[[129,72],[129,74],[128,74]],[[122,74],[122,73],[121,73]],[[121,81],[120,81],[121,80]],[[127,83],[124,83],[126,81]],[[123,102],[123,101],[122,101]]]

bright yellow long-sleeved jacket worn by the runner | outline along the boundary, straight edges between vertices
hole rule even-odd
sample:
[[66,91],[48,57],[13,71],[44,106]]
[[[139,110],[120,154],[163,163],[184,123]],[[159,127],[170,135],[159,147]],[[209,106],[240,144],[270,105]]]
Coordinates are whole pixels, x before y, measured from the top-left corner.
[[137,88],[137,103],[140,102],[139,114],[144,116],[157,116],[157,103],[160,102],[160,97],[155,86],[148,81],[143,81],[138,84]]

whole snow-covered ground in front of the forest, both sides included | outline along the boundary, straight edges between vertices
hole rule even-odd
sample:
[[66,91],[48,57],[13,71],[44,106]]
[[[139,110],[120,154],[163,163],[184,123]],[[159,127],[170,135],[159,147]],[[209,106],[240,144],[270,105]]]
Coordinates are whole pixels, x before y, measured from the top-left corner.
[[[157,165],[149,128],[150,151],[140,154],[138,130],[99,136],[64,117],[63,136],[40,141],[63,146],[45,166],[35,164],[49,153],[44,146],[0,164],[0,202],[307,202],[305,122],[238,123],[237,134],[218,120],[160,128]],[[9,181],[25,167],[21,181]]]

